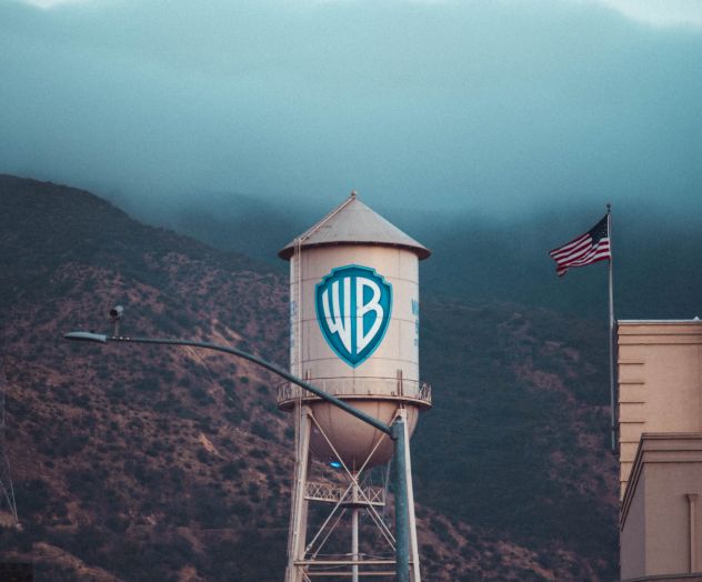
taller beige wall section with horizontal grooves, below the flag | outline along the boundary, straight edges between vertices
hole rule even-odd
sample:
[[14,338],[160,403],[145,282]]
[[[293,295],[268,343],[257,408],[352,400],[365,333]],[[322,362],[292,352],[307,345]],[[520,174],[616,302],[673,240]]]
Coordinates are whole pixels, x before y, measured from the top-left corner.
[[644,432],[702,432],[702,321],[619,322],[620,499]]

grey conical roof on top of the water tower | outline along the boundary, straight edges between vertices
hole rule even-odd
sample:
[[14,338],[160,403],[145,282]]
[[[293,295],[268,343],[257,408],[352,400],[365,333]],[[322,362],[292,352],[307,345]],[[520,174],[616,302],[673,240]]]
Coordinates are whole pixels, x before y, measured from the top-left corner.
[[361,202],[355,192],[311,229],[283,247],[278,257],[287,261],[294,253],[295,241],[300,247],[328,247],[333,244],[378,244],[381,247],[400,247],[417,253],[420,260],[431,254],[429,249],[420,244],[398,227],[388,222],[380,214]]

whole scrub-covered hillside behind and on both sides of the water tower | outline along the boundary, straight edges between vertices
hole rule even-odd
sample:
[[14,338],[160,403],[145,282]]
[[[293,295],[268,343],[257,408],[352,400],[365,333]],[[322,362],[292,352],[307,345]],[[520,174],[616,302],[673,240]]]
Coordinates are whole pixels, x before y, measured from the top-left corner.
[[[190,349],[74,345],[74,329],[230,343],[287,362],[278,271],[142,225],[79,190],[0,177],[0,348],[39,580],[280,580],[292,424],[279,381]],[[285,242],[285,241],[281,241]],[[422,303],[434,409],[412,441],[427,580],[608,580],[615,563],[604,330],[509,303]]]

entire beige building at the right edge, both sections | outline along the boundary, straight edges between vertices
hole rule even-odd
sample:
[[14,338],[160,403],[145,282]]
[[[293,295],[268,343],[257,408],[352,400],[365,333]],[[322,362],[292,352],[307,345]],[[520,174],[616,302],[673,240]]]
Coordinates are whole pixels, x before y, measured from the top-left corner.
[[702,321],[620,321],[618,343],[621,579],[702,580]]

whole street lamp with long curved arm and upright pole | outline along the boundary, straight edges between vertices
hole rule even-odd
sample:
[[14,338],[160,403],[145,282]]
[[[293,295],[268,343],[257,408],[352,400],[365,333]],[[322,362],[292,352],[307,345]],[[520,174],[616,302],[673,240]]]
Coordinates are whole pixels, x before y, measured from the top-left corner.
[[[117,309],[117,308],[116,308]],[[121,309],[121,308],[120,308]],[[116,314],[110,313],[113,321],[119,319]],[[121,315],[121,312],[117,315]],[[72,331],[63,335],[64,339],[71,341],[84,341],[84,342],[121,342],[121,343],[152,343],[161,345],[189,345],[191,348],[202,348],[205,350],[213,350],[218,352],[229,353],[249,360],[261,368],[264,368],[274,374],[284,378],[289,382],[299,385],[303,390],[311,392],[315,397],[325,400],[327,402],[347,411],[352,417],[370,424],[374,429],[388,434],[394,443],[394,460],[395,460],[395,576],[398,582],[410,581],[410,522],[409,522],[409,501],[408,501],[408,483],[407,483],[407,431],[404,427],[404,419],[399,417],[395,421],[388,425],[384,422],[364,413],[340,400],[331,394],[328,394],[323,390],[313,387],[312,384],[297,378],[295,375],[287,372],[278,365],[267,362],[261,358],[258,358],[251,353],[238,350],[237,348],[230,348],[229,345],[220,345],[219,343],[202,342],[195,340],[184,339],[171,339],[171,338],[131,338],[118,335],[118,328],[116,327],[114,335],[106,335],[100,333],[92,333],[87,331]]]

